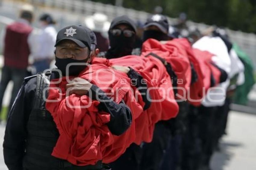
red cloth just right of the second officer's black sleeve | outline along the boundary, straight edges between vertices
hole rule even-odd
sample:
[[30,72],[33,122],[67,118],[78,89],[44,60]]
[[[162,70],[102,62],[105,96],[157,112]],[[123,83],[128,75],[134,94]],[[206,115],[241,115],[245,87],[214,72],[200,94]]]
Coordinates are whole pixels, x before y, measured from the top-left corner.
[[[136,144],[151,142],[155,123],[176,117],[179,107],[174,99],[172,83],[162,62],[155,57],[125,56],[109,60],[111,65],[132,67],[146,80],[152,102],[136,119]],[[143,133],[139,129],[144,129]]]

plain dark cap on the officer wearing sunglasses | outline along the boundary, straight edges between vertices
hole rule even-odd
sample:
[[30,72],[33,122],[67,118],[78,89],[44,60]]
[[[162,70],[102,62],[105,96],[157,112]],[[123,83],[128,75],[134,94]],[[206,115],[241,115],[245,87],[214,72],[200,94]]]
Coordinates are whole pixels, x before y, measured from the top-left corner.
[[136,32],[135,22],[126,15],[114,18],[111,22],[109,30],[113,29],[115,26],[119,24],[127,24],[133,29],[134,32]]

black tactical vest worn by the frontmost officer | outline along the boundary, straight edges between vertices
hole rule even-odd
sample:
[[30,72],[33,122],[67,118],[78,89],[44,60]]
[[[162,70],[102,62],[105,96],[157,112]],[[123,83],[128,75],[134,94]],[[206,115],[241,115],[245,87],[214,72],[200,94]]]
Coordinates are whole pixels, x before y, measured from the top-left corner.
[[52,156],[59,132],[52,115],[45,109],[51,72],[38,73],[33,110],[27,122],[26,151],[23,167],[26,170],[101,169],[102,164],[75,166],[66,160]]

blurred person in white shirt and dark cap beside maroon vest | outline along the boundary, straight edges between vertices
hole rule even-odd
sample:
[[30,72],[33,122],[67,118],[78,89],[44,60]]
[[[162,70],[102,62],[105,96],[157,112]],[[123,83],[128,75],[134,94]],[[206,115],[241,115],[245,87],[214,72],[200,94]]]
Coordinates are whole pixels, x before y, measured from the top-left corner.
[[41,30],[36,39],[33,51],[34,67],[36,72],[44,71],[50,67],[50,62],[54,58],[54,44],[56,41],[57,32],[54,28],[56,23],[49,14],[42,14],[39,18]]

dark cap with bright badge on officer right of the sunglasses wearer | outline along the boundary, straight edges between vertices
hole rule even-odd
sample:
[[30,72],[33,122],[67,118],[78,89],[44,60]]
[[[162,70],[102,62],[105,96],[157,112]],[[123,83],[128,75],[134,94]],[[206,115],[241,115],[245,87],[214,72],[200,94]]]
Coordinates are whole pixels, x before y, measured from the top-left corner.
[[147,28],[148,26],[157,26],[165,34],[167,34],[169,30],[169,23],[167,17],[161,14],[155,14],[151,17],[148,17],[144,28]]

